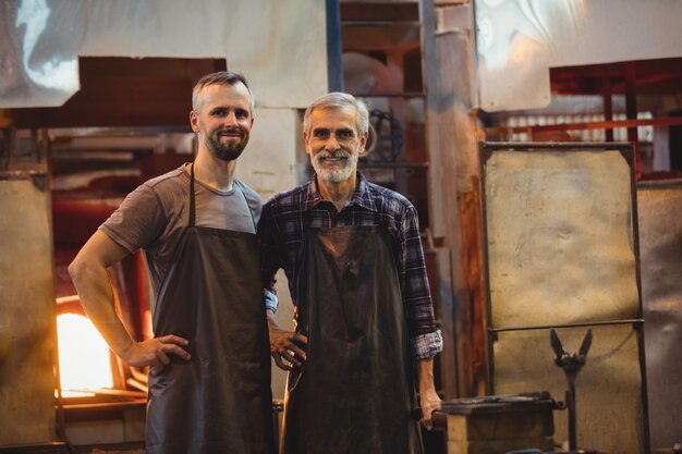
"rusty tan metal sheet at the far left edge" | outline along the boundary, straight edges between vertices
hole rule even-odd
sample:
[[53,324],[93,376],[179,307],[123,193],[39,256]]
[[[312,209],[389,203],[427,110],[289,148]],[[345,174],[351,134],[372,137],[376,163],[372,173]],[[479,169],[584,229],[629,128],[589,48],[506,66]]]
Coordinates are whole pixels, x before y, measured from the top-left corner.
[[56,441],[49,196],[15,176],[0,172],[0,446]]

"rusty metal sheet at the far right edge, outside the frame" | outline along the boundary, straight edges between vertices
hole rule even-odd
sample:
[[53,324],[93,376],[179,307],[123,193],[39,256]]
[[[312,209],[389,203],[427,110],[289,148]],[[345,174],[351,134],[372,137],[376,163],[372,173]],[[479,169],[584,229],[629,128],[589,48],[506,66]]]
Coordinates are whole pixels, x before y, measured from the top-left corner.
[[651,446],[682,441],[682,182],[637,189]]

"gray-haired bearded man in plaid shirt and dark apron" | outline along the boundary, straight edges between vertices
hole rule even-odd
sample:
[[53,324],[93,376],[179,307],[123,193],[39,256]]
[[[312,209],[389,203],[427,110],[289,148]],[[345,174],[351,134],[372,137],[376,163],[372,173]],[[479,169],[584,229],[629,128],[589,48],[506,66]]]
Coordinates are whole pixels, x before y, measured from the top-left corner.
[[303,137],[315,174],[270,199],[258,236],[263,281],[283,268],[295,332],[268,306],[270,354],[289,370],[280,453],[418,454],[440,398],[434,321],[417,214],[398,193],[357,172],[365,105],[342,93],[307,108]]

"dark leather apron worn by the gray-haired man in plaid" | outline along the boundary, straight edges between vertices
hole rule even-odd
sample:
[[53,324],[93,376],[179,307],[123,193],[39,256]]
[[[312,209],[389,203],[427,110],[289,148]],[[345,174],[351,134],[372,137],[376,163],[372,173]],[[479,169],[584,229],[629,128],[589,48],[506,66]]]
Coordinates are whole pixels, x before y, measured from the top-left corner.
[[308,230],[296,330],[307,360],[288,378],[280,453],[418,454],[407,328],[380,228]]

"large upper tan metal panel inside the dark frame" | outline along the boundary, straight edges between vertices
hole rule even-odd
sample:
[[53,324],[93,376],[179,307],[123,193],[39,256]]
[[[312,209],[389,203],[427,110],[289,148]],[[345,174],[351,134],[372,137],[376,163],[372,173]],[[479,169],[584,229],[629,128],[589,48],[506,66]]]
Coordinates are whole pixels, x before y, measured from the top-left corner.
[[617,150],[490,157],[491,327],[637,317],[630,185],[630,167]]

